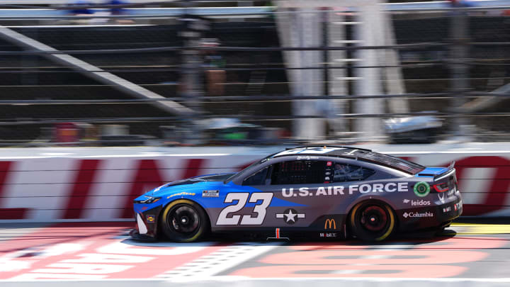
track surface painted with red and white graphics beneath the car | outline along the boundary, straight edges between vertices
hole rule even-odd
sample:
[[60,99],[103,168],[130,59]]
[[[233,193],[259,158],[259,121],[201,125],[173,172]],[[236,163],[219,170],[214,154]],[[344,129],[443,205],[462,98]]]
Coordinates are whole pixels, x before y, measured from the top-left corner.
[[132,223],[3,224],[0,286],[510,286],[506,223],[382,244],[137,242]]

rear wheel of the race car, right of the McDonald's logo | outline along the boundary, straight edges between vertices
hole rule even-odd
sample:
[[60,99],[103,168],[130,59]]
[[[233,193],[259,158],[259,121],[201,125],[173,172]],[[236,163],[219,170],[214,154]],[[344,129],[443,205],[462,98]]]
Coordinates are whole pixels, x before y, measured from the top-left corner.
[[363,201],[350,213],[350,227],[360,240],[378,242],[392,235],[397,220],[392,208],[381,201]]

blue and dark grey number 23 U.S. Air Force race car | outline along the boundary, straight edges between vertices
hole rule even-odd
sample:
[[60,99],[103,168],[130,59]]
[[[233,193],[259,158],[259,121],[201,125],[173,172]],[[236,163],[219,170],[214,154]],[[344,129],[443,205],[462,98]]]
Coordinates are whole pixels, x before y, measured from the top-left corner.
[[208,232],[266,238],[439,231],[463,211],[454,163],[423,167],[358,147],[295,147],[234,174],[164,184],[134,201],[137,238],[193,242]]

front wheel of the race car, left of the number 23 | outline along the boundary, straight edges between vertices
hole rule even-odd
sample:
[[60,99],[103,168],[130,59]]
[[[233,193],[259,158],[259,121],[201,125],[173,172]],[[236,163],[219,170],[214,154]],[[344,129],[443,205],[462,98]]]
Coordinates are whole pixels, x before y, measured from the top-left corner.
[[195,242],[210,230],[205,210],[198,203],[186,199],[169,203],[159,222],[164,235],[174,242]]

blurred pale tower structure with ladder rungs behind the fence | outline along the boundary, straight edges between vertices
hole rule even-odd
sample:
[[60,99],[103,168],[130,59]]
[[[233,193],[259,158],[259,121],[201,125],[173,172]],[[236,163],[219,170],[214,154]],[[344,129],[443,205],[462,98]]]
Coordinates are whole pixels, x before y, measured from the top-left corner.
[[[277,14],[280,40],[285,47],[322,47],[324,29],[321,23],[325,22],[328,47],[395,45],[391,19],[380,4],[378,0],[278,1],[278,12],[281,12]],[[346,33],[347,26],[353,27],[351,35]],[[322,51],[283,53],[289,67],[320,67],[319,64],[323,62]],[[373,96],[405,93],[395,50],[362,49],[352,53],[344,50],[328,51],[326,64],[335,68],[327,69],[329,95]],[[383,65],[391,67],[378,67]],[[352,76],[348,76],[348,69],[353,71]],[[324,94],[324,86],[310,84],[322,81],[322,73],[321,69],[288,70],[289,78],[292,79],[292,94],[297,98]],[[350,86],[353,88],[349,89]],[[360,99],[356,101],[355,113],[384,113],[384,101]],[[388,102],[392,113],[409,112],[405,99],[390,99]],[[336,135],[348,131],[346,120],[337,116],[347,111],[347,102],[341,99],[296,100],[293,106],[295,116],[319,116],[326,113],[331,130]],[[322,139],[326,131],[324,120],[317,118],[297,119],[294,126],[295,135],[306,140]],[[380,118],[360,118],[354,123],[354,131],[359,137],[376,140],[382,136],[382,122]]]

